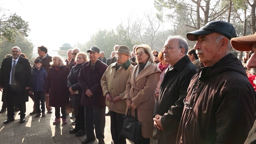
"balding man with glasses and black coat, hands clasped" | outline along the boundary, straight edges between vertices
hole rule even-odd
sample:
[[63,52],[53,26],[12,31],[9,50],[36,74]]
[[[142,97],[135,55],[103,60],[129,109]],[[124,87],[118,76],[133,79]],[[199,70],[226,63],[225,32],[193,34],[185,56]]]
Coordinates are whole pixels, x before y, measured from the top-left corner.
[[156,103],[154,118],[158,131],[158,143],[175,143],[188,85],[196,74],[196,66],[187,56],[188,44],[180,36],[169,37],[162,49],[164,60],[170,64],[167,68],[159,93],[159,105]]

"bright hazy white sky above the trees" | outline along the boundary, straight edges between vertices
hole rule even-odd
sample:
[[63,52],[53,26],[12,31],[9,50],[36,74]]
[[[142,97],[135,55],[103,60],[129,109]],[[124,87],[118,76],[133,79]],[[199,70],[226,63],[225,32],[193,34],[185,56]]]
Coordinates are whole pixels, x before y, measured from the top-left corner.
[[1,0],[0,6],[28,21],[28,39],[57,50],[68,42],[85,43],[99,29],[116,28],[129,12],[141,16],[154,0]]

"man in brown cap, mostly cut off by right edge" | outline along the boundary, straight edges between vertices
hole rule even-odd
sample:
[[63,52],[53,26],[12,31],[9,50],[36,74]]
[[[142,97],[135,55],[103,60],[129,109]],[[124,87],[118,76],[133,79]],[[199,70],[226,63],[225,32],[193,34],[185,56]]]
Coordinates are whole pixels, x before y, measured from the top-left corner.
[[[251,69],[253,73],[256,72],[256,33],[250,36],[241,36],[231,39],[231,45],[234,49],[238,51],[251,51],[252,55],[246,62],[246,67]],[[255,80],[253,80],[255,83]],[[255,115],[252,115],[255,119]],[[244,142],[244,144],[256,144],[256,121],[253,124],[252,130]]]

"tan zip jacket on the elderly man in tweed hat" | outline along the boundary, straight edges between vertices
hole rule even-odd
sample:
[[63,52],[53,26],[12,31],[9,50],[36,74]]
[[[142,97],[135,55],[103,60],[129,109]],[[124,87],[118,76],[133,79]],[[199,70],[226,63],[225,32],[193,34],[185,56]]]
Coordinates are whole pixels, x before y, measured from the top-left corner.
[[127,69],[121,66],[117,70],[116,62],[110,64],[100,79],[103,96],[106,96],[106,93],[109,92],[112,99],[117,96],[121,97],[121,100],[118,102],[113,102],[106,99],[108,110],[119,114],[125,114],[126,110],[126,102],[123,100],[123,98],[125,94],[126,83],[131,75],[131,69],[133,68],[133,65],[130,62],[129,64],[130,66],[126,66],[128,67]]

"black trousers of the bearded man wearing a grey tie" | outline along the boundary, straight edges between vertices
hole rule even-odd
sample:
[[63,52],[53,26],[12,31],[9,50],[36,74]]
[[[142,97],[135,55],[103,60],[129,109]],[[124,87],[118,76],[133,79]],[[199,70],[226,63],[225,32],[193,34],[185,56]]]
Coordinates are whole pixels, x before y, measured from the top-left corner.
[[6,105],[7,105],[7,117],[13,118],[14,116],[14,103],[15,101],[18,103],[20,109],[20,118],[25,117],[26,112],[26,102],[19,101],[20,89],[16,85],[8,85],[7,87],[7,97],[6,97]]

